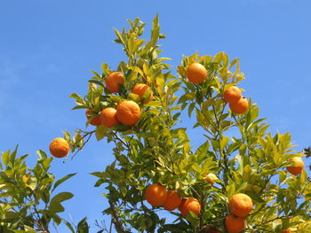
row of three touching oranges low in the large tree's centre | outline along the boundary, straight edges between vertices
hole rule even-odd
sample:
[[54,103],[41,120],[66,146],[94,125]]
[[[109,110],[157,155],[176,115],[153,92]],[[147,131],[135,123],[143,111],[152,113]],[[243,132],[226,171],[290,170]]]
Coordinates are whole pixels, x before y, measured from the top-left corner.
[[196,198],[181,198],[176,190],[165,190],[163,185],[158,183],[148,186],[145,197],[152,206],[163,206],[168,211],[179,208],[184,217],[190,211],[195,215],[199,215],[201,212],[201,204]]

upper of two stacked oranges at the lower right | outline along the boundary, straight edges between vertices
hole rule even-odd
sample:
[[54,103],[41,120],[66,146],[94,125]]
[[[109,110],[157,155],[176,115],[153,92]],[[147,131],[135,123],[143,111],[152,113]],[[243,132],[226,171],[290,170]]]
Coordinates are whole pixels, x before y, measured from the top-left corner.
[[238,217],[245,217],[250,214],[252,206],[251,198],[243,193],[235,194],[229,200],[230,212]]

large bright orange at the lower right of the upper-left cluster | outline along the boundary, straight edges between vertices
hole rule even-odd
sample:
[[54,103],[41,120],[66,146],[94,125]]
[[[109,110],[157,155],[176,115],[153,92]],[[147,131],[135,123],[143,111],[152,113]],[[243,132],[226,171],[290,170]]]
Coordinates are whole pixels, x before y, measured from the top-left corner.
[[124,125],[132,126],[140,120],[140,106],[132,100],[124,100],[116,107],[116,117]]

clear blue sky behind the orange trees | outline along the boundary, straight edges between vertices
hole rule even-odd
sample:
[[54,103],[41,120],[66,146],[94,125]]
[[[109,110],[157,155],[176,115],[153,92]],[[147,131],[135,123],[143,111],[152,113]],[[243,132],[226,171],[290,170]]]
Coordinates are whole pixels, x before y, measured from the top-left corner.
[[[70,110],[68,95],[84,95],[89,69],[100,71],[102,62],[116,67],[124,58],[112,43],[113,27],[127,27],[126,19],[136,17],[150,24],[156,13],[167,36],[163,56],[172,58],[171,65],[196,50],[242,58],[244,95],[260,106],[272,132],[290,131],[301,150],[311,145],[310,8],[308,0],[2,0],[0,151],[20,144],[20,155],[35,157],[62,130],[84,128],[84,113]],[[78,172],[60,189],[76,195],[63,216],[76,223],[88,216],[90,232],[108,205],[88,173],[113,160],[110,149],[92,140],[74,160],[52,164],[58,178]]]

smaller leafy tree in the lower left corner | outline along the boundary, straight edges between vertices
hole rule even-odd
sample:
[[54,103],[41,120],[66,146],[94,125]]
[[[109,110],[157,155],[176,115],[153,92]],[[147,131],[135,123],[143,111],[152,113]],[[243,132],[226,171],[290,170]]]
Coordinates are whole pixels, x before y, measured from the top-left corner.
[[61,203],[74,195],[68,191],[55,194],[55,189],[61,183],[76,174],[68,174],[56,180],[55,175],[49,172],[52,157],[39,150],[36,152],[36,165],[28,167],[28,154],[18,156],[17,149],[5,151],[1,156],[0,232],[47,233],[52,224],[56,226],[60,222],[64,222],[71,232],[86,232],[86,219],[73,227],[60,216],[65,210]]

